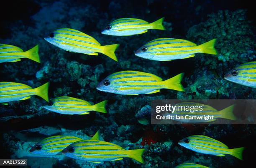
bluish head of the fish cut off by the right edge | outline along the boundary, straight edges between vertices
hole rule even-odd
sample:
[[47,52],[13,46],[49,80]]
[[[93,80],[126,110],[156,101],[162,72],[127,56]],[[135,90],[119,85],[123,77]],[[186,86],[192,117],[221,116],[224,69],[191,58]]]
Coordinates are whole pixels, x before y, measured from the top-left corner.
[[235,68],[226,73],[224,78],[230,82],[244,85],[246,83],[246,79],[241,76],[243,76],[243,74]]

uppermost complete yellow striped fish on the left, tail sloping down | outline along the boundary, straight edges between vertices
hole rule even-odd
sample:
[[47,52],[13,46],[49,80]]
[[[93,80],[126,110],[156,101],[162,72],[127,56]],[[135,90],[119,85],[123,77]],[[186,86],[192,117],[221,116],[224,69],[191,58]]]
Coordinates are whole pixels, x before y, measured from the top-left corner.
[[102,53],[118,61],[115,50],[119,44],[101,45],[95,38],[70,28],[57,29],[44,38],[47,42],[70,52],[88,55]]

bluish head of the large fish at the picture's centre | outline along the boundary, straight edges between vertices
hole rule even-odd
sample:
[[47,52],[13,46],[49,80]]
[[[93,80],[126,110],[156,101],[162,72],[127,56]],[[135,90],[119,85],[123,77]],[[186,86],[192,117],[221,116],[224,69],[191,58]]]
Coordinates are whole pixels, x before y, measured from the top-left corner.
[[118,91],[117,88],[114,87],[114,82],[113,77],[108,76],[105,79],[103,79],[96,87],[97,90],[100,91],[105,91],[109,93],[116,93]]

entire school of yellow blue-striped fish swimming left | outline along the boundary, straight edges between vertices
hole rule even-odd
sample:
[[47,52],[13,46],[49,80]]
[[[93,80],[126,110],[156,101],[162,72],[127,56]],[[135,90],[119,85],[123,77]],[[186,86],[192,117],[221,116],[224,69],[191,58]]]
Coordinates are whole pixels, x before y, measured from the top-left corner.
[[[101,32],[103,35],[113,36],[131,36],[148,32],[150,29],[165,30],[163,26],[164,17],[155,22],[147,22],[136,18],[120,18],[110,22]],[[95,38],[79,30],[71,28],[60,28],[50,32],[44,38],[47,42],[56,47],[69,52],[97,56],[104,54],[111,59],[118,61],[115,50],[120,44],[101,45]],[[155,61],[171,61],[175,59],[187,59],[195,57],[196,53],[205,53],[216,55],[216,39],[212,39],[203,44],[197,45],[188,40],[174,38],[158,38],[147,42],[142,47],[135,50],[135,55],[145,59]],[[0,44],[0,63],[19,62],[23,58],[31,59],[41,63],[38,54],[38,45],[23,51],[19,47]],[[126,70],[110,74],[97,84],[97,90],[121,95],[154,94],[161,89],[173,89],[176,91],[185,91],[182,86],[184,73],[163,80],[155,74],[147,72],[138,72]],[[225,74],[225,79],[249,87],[256,87],[256,62],[247,62],[241,64]],[[0,82],[0,104],[8,105],[11,101],[20,101],[30,99],[37,95],[49,102],[48,98],[49,82],[42,86],[32,88],[26,84],[16,82]],[[88,101],[69,96],[61,96],[50,100],[49,105],[43,106],[44,109],[59,114],[83,115],[90,111],[107,113],[105,109],[107,100],[97,104],[91,104]],[[183,102],[179,105],[197,105],[193,102]],[[236,120],[233,114],[234,105],[218,111],[209,105],[203,105],[201,111],[195,111],[193,115],[214,115],[216,118]],[[175,115],[192,115],[190,111],[176,110]],[[211,120],[214,121],[214,120]],[[211,122],[207,121],[207,122]],[[185,121],[180,121],[185,122]],[[202,121],[188,121],[196,123]],[[215,156],[232,155],[243,159],[244,148],[230,149],[224,143],[204,135],[188,136],[179,141],[179,145],[198,153],[204,153]],[[139,163],[144,163],[142,155],[145,149],[125,150],[124,148],[105,141],[99,140],[99,132],[95,133],[90,140],[84,140],[75,136],[51,136],[44,138],[36,143],[29,150],[35,155],[59,155],[64,154],[67,157],[88,161],[92,163],[102,163],[104,161],[118,161],[123,158],[132,158]],[[176,168],[207,168],[195,163],[182,163]]]

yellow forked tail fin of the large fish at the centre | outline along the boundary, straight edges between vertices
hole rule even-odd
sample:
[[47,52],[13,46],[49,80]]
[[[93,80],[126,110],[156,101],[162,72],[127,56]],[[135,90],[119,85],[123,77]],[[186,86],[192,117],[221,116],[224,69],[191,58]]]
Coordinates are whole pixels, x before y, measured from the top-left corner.
[[181,74],[176,75],[175,77],[172,77],[170,79],[163,81],[165,88],[173,89],[173,90],[177,90],[177,91],[185,91],[184,87],[180,83],[182,81],[183,76],[184,76],[184,73],[181,73]]

